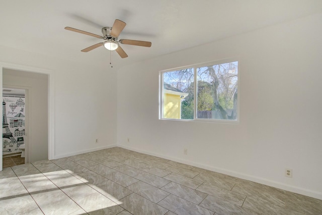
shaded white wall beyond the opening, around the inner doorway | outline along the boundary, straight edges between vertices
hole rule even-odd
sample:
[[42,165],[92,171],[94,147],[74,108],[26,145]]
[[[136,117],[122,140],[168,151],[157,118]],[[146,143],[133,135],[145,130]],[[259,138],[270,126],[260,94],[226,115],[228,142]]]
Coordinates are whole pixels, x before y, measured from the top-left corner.
[[[48,159],[48,75],[3,69],[3,84],[28,88],[28,162]],[[29,132],[28,132],[29,131]],[[26,137],[25,137],[26,138]]]

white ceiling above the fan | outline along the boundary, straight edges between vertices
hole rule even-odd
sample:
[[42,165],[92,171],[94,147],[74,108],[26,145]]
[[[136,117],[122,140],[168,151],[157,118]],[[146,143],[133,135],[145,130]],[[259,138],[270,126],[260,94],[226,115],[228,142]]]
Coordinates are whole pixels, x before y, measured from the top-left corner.
[[109,64],[110,52],[82,49],[101,39],[115,19],[127,23],[119,39],[151,41],[151,48],[121,45],[128,58],[113,52],[113,64],[137,61],[209,43],[322,12],[321,0],[0,0],[0,45],[73,61]]

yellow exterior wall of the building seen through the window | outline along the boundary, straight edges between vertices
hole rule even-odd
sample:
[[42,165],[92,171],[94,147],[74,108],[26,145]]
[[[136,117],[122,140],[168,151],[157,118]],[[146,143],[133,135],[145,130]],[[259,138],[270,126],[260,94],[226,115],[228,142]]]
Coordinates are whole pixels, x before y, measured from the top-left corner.
[[180,95],[164,94],[163,117],[168,119],[181,119],[181,97]]

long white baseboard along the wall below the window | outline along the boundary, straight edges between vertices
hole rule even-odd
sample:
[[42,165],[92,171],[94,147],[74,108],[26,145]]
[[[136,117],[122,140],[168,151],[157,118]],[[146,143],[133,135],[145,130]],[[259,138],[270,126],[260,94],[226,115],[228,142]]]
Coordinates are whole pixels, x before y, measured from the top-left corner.
[[241,179],[245,179],[245,180],[249,180],[249,181],[254,181],[254,182],[257,182],[257,183],[260,183],[260,184],[265,184],[265,185],[268,185],[268,186],[271,186],[271,187],[283,189],[283,190],[290,191],[290,192],[295,192],[295,193],[298,193],[298,194],[302,194],[302,195],[306,195],[306,196],[309,196],[309,197],[313,197],[313,198],[317,198],[317,199],[322,200],[322,192],[317,192],[317,191],[314,191],[314,190],[304,189],[304,188],[297,187],[297,186],[290,186],[288,184],[280,183],[280,182],[277,182],[277,181],[271,181],[271,180],[268,180],[268,179],[265,179],[265,178],[260,178],[260,177],[256,177],[256,176],[253,176],[253,175],[240,173],[240,172],[234,172],[234,171],[230,171],[230,170],[227,170],[227,169],[216,168],[216,167],[204,165],[204,164],[201,164],[201,163],[191,162],[191,161],[182,160],[182,159],[178,159],[178,158],[174,158],[174,157],[168,157],[168,156],[164,156],[164,155],[161,155],[161,154],[157,154],[157,153],[153,153],[153,152],[149,152],[149,151],[145,151],[145,150],[135,149],[135,148],[128,147],[128,146],[125,146],[125,145],[118,144],[117,146],[121,147],[121,148],[124,148],[124,149],[132,150],[132,151],[135,151],[135,152],[140,152],[140,153],[144,153],[144,154],[147,154],[147,155],[152,155],[152,156],[156,156],[156,157],[160,157],[160,158],[165,158],[165,159],[168,159],[168,160],[184,163],[184,164],[187,164],[187,165],[199,167],[199,168],[202,168],[202,169],[207,169],[207,170],[210,170],[210,171],[230,175],[230,176],[233,176],[233,177],[237,177],[237,178],[241,178]]

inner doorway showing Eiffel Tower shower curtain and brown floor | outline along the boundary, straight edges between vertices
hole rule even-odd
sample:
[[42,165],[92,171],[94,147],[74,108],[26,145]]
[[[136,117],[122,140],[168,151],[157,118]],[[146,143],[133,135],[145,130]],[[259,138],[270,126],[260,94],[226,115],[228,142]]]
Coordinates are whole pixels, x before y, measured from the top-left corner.
[[28,89],[8,88],[4,85],[3,168],[28,163],[27,131]]

